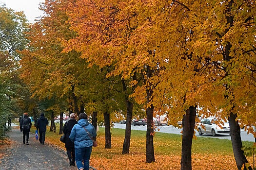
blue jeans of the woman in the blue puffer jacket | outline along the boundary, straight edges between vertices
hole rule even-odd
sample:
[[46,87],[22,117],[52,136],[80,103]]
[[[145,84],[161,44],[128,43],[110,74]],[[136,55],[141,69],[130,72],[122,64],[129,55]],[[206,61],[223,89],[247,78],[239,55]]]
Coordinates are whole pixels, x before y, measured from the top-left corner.
[[[89,160],[92,153],[92,146],[86,148],[75,149],[76,164],[78,169],[83,168],[89,170]],[[82,163],[83,162],[83,163]]]

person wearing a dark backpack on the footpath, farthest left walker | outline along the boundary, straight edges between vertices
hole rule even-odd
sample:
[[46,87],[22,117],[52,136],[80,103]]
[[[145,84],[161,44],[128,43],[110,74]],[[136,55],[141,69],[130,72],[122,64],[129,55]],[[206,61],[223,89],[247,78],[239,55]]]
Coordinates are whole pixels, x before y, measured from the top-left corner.
[[23,118],[20,121],[20,129],[23,132],[23,144],[25,144],[25,139],[26,139],[26,144],[28,145],[28,139],[29,139],[29,132],[30,128],[32,126],[31,119],[28,117],[28,113],[24,113]]

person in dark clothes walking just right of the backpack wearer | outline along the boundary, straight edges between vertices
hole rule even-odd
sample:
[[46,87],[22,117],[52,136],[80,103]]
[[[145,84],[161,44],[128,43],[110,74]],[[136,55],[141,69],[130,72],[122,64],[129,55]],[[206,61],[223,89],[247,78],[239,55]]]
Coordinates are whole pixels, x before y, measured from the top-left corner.
[[44,114],[40,114],[40,118],[37,121],[37,129],[39,129],[39,142],[40,144],[44,145],[45,141],[45,132],[46,132],[46,125],[48,125],[48,120],[44,117]]

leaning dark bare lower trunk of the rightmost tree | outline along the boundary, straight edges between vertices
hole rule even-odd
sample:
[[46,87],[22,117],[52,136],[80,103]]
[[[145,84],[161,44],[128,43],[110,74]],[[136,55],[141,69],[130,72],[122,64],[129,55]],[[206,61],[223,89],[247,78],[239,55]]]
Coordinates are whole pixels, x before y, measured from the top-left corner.
[[236,120],[236,114],[231,113],[229,115],[229,126],[230,126],[230,136],[232,141],[233,153],[236,159],[236,166],[238,170],[253,170],[250,166],[248,169],[245,164],[248,163],[245,155],[243,154],[242,140],[240,134],[240,126]]

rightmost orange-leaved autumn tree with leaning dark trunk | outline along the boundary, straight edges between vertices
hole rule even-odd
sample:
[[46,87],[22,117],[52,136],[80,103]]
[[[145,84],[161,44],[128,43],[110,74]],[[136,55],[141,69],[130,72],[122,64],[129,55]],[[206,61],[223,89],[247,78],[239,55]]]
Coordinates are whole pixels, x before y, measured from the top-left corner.
[[[198,11],[199,8],[197,3],[184,2],[183,5],[187,5],[191,11]],[[186,22],[197,22],[191,25],[191,28],[194,26],[191,29],[192,33],[199,33],[193,45],[193,52],[198,56],[208,55],[204,58],[204,63],[212,65],[209,71],[213,73],[214,83],[212,93],[208,93],[210,103],[200,104],[221,118],[229,119],[238,169],[251,169],[241,150],[242,142],[237,119],[248,123],[249,126],[255,124],[251,121],[254,116],[250,111],[255,98],[247,97],[248,94],[251,96],[255,89],[251,79],[251,68],[255,63],[252,59],[255,51],[255,23],[251,22],[255,15],[254,9],[253,1],[206,1],[200,3],[201,12],[193,12],[190,22]],[[205,15],[207,12],[209,15]],[[249,130],[253,132],[252,128]]]

